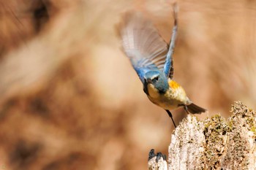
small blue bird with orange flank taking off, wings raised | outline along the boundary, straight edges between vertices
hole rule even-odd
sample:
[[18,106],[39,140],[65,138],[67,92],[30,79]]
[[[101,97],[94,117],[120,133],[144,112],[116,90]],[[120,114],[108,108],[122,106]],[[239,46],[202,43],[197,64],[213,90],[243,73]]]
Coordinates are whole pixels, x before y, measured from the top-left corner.
[[146,20],[140,12],[128,12],[124,15],[124,23],[120,29],[122,48],[143,83],[143,91],[152,103],[165,109],[175,128],[176,123],[170,110],[184,107],[188,114],[207,111],[194,104],[187,97],[184,88],[173,79],[173,53],[178,31],[177,15],[178,7],[175,4],[170,45],[167,45],[153,23]]

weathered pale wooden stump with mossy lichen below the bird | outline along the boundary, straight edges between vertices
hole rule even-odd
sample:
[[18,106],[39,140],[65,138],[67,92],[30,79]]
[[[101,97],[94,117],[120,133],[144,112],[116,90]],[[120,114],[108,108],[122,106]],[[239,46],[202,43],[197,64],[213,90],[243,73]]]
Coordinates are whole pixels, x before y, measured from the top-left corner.
[[256,113],[240,101],[230,112],[227,120],[188,115],[172,134],[168,169],[256,169]]

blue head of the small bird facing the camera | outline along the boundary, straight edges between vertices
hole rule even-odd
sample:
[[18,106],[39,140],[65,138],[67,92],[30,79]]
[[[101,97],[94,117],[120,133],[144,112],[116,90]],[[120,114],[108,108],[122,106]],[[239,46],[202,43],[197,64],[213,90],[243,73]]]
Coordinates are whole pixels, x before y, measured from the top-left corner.
[[148,94],[148,85],[151,84],[158,91],[158,93],[165,93],[168,88],[168,81],[163,72],[150,71],[144,76],[143,90]]

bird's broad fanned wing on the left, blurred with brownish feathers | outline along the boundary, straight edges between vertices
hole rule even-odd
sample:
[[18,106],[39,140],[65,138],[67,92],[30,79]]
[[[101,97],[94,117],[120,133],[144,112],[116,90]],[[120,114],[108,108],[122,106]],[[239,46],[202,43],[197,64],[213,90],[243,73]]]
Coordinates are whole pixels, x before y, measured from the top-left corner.
[[143,82],[150,70],[162,70],[165,66],[167,43],[159,36],[151,22],[140,13],[129,13],[124,17],[121,28],[124,52]]

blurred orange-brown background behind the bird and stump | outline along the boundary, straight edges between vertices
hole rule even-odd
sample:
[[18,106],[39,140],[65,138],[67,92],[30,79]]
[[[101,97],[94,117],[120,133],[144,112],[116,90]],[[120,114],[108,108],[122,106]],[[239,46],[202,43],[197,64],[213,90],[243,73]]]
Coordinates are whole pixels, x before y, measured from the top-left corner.
[[[118,24],[143,12],[166,42],[167,0],[0,0],[0,170],[147,169],[173,123],[121,51]],[[256,1],[178,1],[175,80],[208,113],[255,109]],[[178,124],[187,113],[173,111]]]

